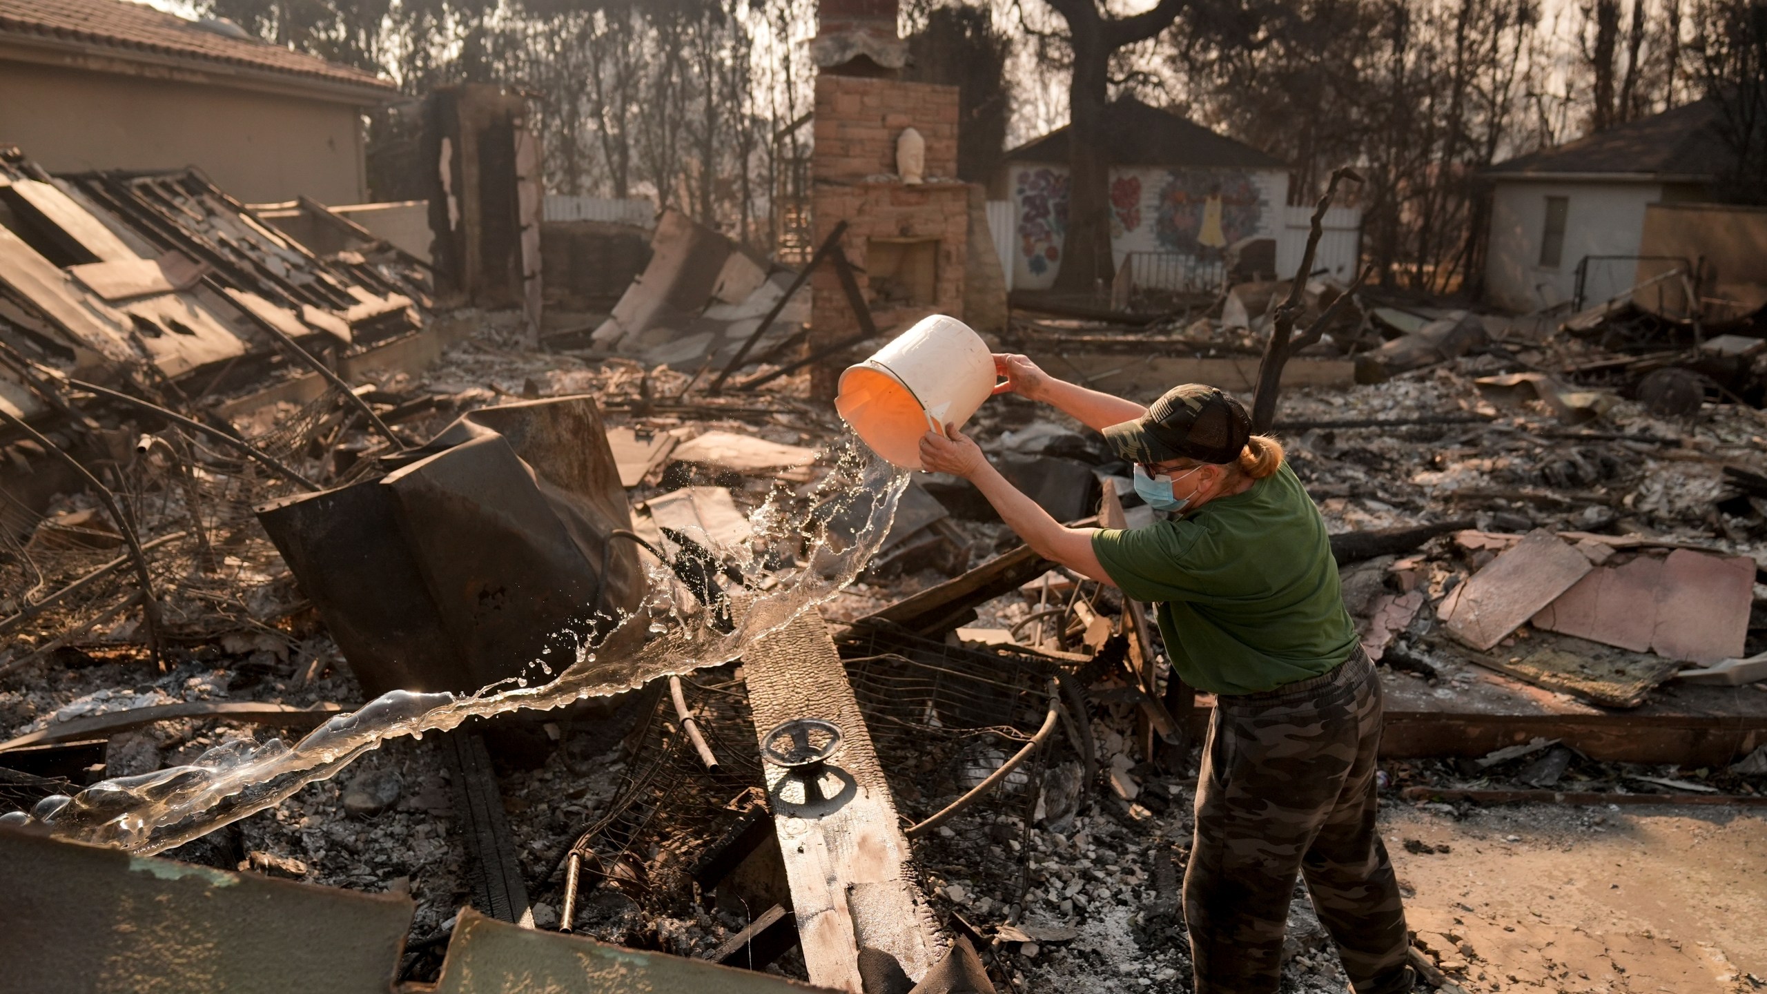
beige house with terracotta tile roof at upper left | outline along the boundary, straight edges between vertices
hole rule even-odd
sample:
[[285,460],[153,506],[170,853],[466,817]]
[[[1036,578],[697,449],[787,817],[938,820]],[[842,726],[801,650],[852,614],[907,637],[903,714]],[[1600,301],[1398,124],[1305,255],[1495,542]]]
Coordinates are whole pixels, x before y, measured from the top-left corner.
[[53,173],[196,166],[233,196],[368,200],[371,73],[127,0],[0,0],[0,145]]

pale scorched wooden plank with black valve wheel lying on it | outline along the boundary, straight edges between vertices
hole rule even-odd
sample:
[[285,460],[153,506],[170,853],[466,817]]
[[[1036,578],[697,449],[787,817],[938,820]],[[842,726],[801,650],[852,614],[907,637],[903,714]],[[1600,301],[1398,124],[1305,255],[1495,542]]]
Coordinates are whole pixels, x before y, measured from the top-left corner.
[[811,983],[862,994],[861,948],[892,957],[919,982],[938,957],[937,925],[906,868],[896,801],[822,617],[804,612],[755,640],[742,674],[758,741],[793,718],[822,718],[843,732],[816,784],[829,801],[808,796],[797,775],[765,768]]

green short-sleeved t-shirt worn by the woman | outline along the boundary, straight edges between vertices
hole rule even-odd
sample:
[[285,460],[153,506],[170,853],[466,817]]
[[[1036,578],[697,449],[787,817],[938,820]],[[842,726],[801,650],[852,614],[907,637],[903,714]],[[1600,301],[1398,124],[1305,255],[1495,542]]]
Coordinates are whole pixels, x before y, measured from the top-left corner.
[[1159,605],[1172,667],[1198,690],[1276,690],[1355,649],[1325,520],[1286,463],[1182,518],[1099,529],[1092,550],[1124,594]]

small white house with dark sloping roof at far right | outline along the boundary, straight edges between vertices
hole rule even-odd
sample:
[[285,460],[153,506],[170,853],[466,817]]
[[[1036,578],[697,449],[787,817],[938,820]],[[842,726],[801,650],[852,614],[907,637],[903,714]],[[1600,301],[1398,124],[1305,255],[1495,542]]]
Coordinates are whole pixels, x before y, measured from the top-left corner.
[[1631,290],[1650,205],[1707,200],[1733,161],[1718,120],[1696,101],[1491,166],[1486,299],[1534,311]]

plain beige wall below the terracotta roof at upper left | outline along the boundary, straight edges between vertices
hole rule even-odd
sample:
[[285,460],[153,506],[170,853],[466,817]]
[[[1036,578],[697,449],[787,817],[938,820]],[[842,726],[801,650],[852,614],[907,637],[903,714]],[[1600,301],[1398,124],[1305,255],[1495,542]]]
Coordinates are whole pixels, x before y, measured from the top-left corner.
[[345,103],[0,60],[0,145],[49,172],[200,166],[246,202],[368,200]]

